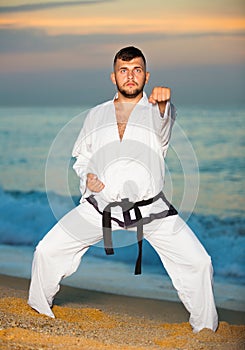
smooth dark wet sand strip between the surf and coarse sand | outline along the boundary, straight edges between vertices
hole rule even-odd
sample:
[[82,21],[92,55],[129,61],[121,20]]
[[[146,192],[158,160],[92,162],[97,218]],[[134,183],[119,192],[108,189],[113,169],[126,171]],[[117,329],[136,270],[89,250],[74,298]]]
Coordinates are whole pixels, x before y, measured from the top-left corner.
[[[28,295],[30,280],[22,277],[0,274],[1,288],[9,288],[12,294]],[[0,295],[1,297],[1,295]],[[61,285],[54,305],[101,308],[106,312],[123,313],[129,316],[146,317],[161,322],[188,322],[189,313],[181,301],[158,300],[145,297],[125,296],[84,288]],[[112,306],[111,306],[112,305]],[[126,309],[125,309],[126,305]],[[138,307],[140,305],[140,307]],[[245,324],[245,312],[217,307],[219,320],[234,325]]]

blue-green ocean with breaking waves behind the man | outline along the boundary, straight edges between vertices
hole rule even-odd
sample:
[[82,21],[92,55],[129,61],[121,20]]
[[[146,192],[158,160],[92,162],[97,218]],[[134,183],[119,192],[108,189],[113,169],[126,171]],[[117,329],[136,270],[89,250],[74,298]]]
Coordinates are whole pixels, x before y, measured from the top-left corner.
[[[30,278],[35,245],[79,202],[72,146],[83,107],[0,108],[0,271]],[[245,310],[244,108],[179,107],[166,158],[165,192],[188,221],[214,266],[218,306]],[[134,276],[135,246],[101,245],[64,284],[104,292],[178,300],[164,267],[145,242],[143,274]]]

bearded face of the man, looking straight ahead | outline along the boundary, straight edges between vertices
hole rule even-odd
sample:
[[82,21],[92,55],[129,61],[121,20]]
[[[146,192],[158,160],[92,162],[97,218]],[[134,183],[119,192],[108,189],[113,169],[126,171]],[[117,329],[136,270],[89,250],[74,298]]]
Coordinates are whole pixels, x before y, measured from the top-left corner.
[[144,61],[136,57],[131,61],[118,59],[114,66],[111,79],[116,84],[118,92],[126,98],[135,98],[142,94],[148,82],[149,73],[145,71]]

